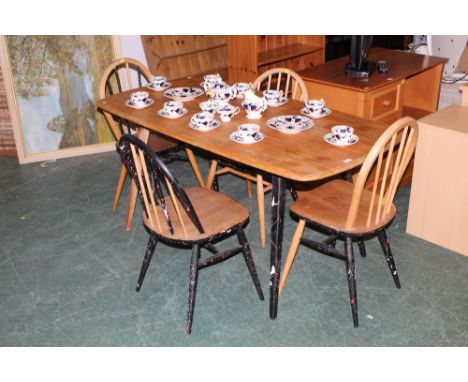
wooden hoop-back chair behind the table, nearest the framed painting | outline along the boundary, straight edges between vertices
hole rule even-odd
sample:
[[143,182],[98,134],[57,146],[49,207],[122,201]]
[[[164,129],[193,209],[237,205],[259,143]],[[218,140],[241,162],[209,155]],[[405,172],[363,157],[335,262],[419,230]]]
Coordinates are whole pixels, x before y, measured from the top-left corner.
[[[109,64],[104,70],[99,85],[99,97],[104,98],[133,88],[142,87],[148,83],[150,77],[150,71],[141,62],[132,58],[119,58]],[[116,141],[120,139],[122,134],[135,134],[138,131],[138,126],[128,121],[124,121],[121,118],[112,118],[110,115],[105,115],[105,117]],[[152,132],[148,138],[148,145],[154,152],[162,156],[166,162],[170,162],[172,160],[185,160],[185,158],[176,153],[176,151],[181,149],[183,146],[172,139]],[[186,148],[186,152],[195,175],[200,181],[202,177],[200,175],[198,165],[194,160],[193,153],[189,148]],[[112,205],[113,211],[115,211],[119,203],[126,176],[127,169],[125,165],[122,164]]]

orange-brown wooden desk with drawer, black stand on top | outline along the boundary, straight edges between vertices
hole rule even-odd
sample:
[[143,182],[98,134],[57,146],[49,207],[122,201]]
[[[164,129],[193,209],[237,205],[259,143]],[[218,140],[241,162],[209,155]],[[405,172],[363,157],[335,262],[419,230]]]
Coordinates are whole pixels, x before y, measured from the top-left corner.
[[386,60],[388,73],[369,78],[345,74],[349,57],[299,72],[310,98],[324,98],[331,109],[391,123],[403,115],[416,119],[437,110],[440,80],[447,59],[373,48],[369,60]]

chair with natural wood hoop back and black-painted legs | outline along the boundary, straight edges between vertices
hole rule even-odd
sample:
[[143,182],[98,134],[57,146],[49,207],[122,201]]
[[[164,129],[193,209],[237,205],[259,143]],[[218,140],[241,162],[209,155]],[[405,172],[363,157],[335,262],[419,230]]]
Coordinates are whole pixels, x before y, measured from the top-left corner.
[[[279,283],[282,292],[300,244],[344,260],[354,326],[359,325],[353,241],[378,237],[387,265],[397,288],[400,280],[387,238],[386,228],[396,215],[393,204],[397,186],[415,150],[417,122],[404,117],[394,122],[379,137],[367,155],[356,180],[336,179],[299,197],[290,206],[299,219]],[[372,174],[372,176],[369,176]],[[371,182],[371,188],[366,184]],[[305,226],[325,233],[323,242],[303,237]],[[345,242],[344,253],[335,248],[336,240]],[[365,255],[365,252],[361,255]]]

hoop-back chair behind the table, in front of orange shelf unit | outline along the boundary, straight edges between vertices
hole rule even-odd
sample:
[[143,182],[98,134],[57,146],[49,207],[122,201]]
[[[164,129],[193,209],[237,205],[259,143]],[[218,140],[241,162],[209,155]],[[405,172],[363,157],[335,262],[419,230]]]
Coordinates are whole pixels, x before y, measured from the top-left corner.
[[[287,98],[307,101],[308,93],[304,81],[293,70],[288,68],[275,68],[261,74],[252,84],[253,89],[264,91],[269,89],[282,90]],[[257,183],[257,209],[258,221],[260,225],[260,241],[262,248],[266,247],[266,226],[265,226],[265,193],[271,190],[271,184],[263,179],[261,173],[252,173],[248,169],[239,169],[233,164],[224,164],[218,169],[218,161],[211,162],[210,171],[207,178],[207,187],[211,188],[214,183],[217,187],[217,177],[226,173],[231,173],[246,179],[247,192],[252,197],[252,184]],[[294,191],[292,191],[294,192]]]

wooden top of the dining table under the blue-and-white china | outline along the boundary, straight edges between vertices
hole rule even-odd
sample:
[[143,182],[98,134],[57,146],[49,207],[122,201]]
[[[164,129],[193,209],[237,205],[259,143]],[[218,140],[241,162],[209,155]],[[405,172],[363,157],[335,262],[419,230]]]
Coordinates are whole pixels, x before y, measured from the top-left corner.
[[[175,82],[173,86],[199,86],[199,79],[187,79]],[[161,93],[151,92],[155,103],[142,110],[125,106],[129,92],[107,97],[98,101],[98,107],[107,113],[119,115],[151,131],[185,142],[194,147],[206,150],[228,160],[239,162],[296,181],[314,181],[359,166],[368,151],[384,131],[386,125],[335,112],[319,120],[307,131],[295,135],[286,135],[266,126],[269,118],[284,114],[299,114],[303,103],[290,100],[287,104],[269,108],[257,123],[265,134],[265,139],[253,145],[240,145],[229,139],[229,134],[241,123],[251,122],[241,111],[231,122],[222,122],[221,126],[207,133],[190,129],[191,116],[200,110],[199,102],[204,96],[185,102],[188,113],[177,119],[169,120],[157,115],[157,110],[167,100]],[[238,104],[239,102],[233,102]],[[323,136],[330,132],[334,125],[346,124],[355,128],[359,143],[348,147],[336,147],[326,143]]]

